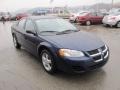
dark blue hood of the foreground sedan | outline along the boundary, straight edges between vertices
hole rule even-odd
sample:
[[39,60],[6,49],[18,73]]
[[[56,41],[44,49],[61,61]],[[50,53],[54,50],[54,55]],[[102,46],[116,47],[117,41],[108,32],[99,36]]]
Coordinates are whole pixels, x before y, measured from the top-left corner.
[[70,34],[44,36],[44,39],[56,45],[58,48],[81,51],[98,49],[104,45],[99,38],[90,33],[82,31]]

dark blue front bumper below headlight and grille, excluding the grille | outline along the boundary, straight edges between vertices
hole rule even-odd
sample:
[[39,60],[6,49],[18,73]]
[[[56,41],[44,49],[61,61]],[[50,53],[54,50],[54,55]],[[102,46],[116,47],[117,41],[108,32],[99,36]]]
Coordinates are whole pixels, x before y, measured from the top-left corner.
[[108,58],[100,62],[94,62],[94,60],[87,57],[81,58],[81,60],[61,59],[59,60],[58,68],[68,73],[82,73],[101,68],[107,63]]

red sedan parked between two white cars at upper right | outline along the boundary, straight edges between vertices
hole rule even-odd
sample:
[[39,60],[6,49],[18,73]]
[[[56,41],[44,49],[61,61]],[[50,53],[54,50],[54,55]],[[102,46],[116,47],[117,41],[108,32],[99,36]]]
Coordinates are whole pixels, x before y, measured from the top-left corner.
[[77,17],[77,22],[85,25],[101,24],[103,15],[96,12],[82,13]]

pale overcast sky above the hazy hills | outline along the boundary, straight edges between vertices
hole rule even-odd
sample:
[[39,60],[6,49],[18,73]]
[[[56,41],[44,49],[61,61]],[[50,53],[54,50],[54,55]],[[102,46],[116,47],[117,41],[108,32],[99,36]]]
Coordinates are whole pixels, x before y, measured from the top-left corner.
[[[22,8],[92,5],[98,2],[111,3],[112,0],[0,0],[0,11],[15,11]],[[114,0],[120,2],[120,0]]]

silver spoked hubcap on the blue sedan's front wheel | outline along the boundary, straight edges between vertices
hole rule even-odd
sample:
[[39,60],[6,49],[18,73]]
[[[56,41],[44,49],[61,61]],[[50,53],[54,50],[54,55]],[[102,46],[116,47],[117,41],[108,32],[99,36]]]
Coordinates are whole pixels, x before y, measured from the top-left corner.
[[50,58],[50,56],[47,53],[43,53],[42,54],[42,63],[43,63],[44,68],[47,71],[50,71],[52,69],[51,58]]

